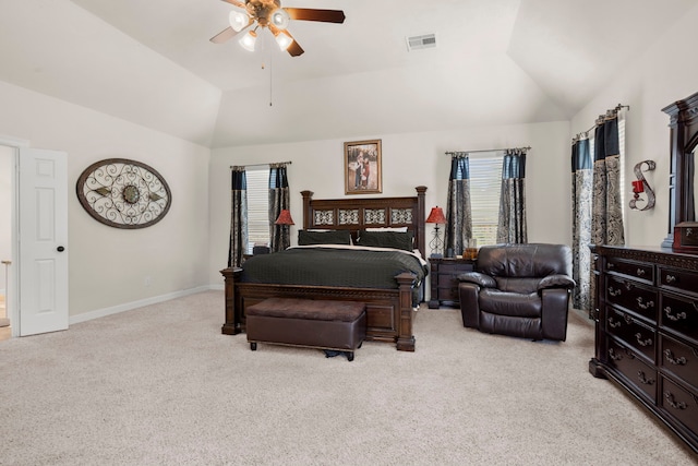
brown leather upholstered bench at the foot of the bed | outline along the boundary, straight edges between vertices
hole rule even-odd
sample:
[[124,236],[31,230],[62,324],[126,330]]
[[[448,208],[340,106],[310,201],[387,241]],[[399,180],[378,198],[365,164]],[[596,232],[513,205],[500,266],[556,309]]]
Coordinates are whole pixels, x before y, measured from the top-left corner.
[[366,336],[366,304],[357,301],[268,298],[245,309],[250,348],[257,343],[353,351]]

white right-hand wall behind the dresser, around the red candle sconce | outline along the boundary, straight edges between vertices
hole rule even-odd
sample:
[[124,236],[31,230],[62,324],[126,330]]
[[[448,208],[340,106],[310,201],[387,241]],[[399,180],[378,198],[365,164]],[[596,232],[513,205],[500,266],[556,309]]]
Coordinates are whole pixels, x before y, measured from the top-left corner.
[[[657,195],[653,210],[627,208],[625,229],[629,246],[659,247],[667,235],[670,130],[662,108],[698,91],[698,61],[695,59],[698,9],[684,16],[646,53],[628,63],[615,80],[607,83],[571,120],[573,133],[589,129],[594,119],[618,103],[629,105],[626,120],[627,201],[630,181],[636,179],[636,164],[651,159],[653,171],[645,174]],[[627,206],[627,205],[626,205]]]

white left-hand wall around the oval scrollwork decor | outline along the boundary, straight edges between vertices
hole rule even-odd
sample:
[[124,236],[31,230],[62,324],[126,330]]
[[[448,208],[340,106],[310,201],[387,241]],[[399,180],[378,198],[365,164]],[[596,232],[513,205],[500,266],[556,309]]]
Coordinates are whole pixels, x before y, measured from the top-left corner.
[[[207,285],[207,147],[2,82],[0,101],[0,134],[68,153],[71,316]],[[77,178],[111,157],[163,175],[172,191],[163,220],[124,230],[83,210]]]

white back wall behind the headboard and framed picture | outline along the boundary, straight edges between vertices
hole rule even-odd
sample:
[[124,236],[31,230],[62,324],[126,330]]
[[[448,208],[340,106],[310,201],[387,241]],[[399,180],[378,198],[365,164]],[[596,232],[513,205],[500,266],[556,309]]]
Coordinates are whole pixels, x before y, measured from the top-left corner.
[[[426,186],[426,212],[434,205],[446,204],[450,157],[445,155],[445,152],[530,145],[532,148],[526,167],[529,241],[570,243],[571,175],[568,122],[467,128],[424,133],[366,134],[365,138],[354,138],[350,141],[364,139],[382,140],[381,195],[416,195],[417,186]],[[292,243],[296,243],[296,231],[302,224],[301,191],[313,191],[315,199],[345,196],[342,159],[346,141],[348,140],[324,140],[213,151],[209,170],[212,283],[220,284],[221,277],[217,271],[227,266],[230,230],[229,167],[292,162],[288,174],[291,215],[297,223],[297,226],[291,228],[291,237]],[[431,234],[431,230],[428,234]]]

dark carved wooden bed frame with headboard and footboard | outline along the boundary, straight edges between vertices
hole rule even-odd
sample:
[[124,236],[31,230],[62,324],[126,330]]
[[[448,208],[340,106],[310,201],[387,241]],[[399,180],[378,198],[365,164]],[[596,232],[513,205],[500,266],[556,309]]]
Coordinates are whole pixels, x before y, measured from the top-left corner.
[[[380,227],[405,227],[414,234],[414,244],[426,255],[424,246],[424,195],[426,187],[417,187],[409,198],[359,198],[313,200],[311,191],[302,191],[303,229],[349,230],[357,239],[359,230]],[[395,343],[402,351],[414,350],[412,335],[412,289],[414,276],[402,273],[395,277],[395,289],[347,288],[308,285],[272,285],[240,283],[242,268],[220,271],[225,277],[226,322],[221,332],[236,335],[245,330],[244,309],[270,297],[351,300],[366,303],[366,339]]]

